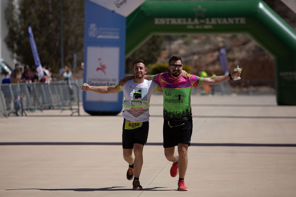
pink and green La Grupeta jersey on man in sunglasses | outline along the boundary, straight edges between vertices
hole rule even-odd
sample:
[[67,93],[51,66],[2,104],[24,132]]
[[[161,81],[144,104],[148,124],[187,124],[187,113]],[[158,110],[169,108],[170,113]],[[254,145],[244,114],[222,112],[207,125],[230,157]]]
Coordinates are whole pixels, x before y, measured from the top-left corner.
[[172,77],[170,72],[153,75],[151,79],[163,89],[163,118],[184,121],[192,118],[191,88],[200,87],[203,77],[196,75]]

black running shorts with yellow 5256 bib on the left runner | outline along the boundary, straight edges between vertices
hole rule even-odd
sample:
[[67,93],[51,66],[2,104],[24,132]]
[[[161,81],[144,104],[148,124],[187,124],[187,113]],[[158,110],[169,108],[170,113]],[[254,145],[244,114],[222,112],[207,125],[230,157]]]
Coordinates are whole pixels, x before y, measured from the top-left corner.
[[[127,123],[127,124],[126,124]],[[133,126],[136,125],[133,128]],[[141,125],[140,127],[138,127]],[[128,128],[128,129],[127,129]],[[122,148],[132,149],[133,144],[146,144],[149,131],[149,121],[141,123],[128,122],[124,118],[122,126]]]

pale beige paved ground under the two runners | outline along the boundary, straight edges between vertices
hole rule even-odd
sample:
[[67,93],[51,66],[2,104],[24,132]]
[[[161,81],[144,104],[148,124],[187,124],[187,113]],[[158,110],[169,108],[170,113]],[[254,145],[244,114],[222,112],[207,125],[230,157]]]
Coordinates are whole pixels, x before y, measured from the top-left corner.
[[152,96],[141,185],[132,191],[117,116],[70,111],[0,117],[0,196],[295,196],[296,106],[275,96],[192,96],[187,192],[163,154],[162,96]]

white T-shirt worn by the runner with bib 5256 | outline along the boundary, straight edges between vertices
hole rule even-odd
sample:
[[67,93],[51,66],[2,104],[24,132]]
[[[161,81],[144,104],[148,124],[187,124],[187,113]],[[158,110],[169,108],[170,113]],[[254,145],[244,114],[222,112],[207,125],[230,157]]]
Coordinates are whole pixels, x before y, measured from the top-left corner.
[[[152,80],[146,80],[147,82],[147,88],[148,88],[148,101],[150,101],[151,95],[153,93],[154,90],[157,90],[160,86],[158,83],[152,81]],[[130,97],[130,93],[129,90],[129,85],[130,83],[127,82],[126,84],[122,86],[118,86],[117,87],[124,92],[124,96],[125,98],[129,98]],[[134,90],[135,92],[142,92],[142,87],[143,87],[143,83],[139,83],[136,84],[134,83]],[[131,109],[129,110],[124,110],[122,113],[123,118],[125,118],[128,121],[131,122],[146,122],[149,121],[149,108],[148,109],[143,109],[140,107],[135,107],[133,108],[133,106],[142,106],[141,103],[141,93],[134,93],[133,94],[133,99],[137,99],[137,100],[132,100],[131,101]],[[127,99],[126,99],[127,100]],[[129,99],[130,100],[130,99]]]

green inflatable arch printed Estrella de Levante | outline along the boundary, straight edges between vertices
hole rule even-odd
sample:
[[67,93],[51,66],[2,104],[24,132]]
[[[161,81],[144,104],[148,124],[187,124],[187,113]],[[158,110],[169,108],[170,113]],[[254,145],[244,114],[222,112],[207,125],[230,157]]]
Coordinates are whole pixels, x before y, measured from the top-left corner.
[[274,56],[278,105],[296,105],[296,32],[263,1],[145,1],[126,26],[126,56],[153,34],[248,33]]

